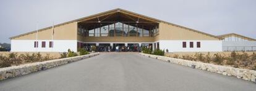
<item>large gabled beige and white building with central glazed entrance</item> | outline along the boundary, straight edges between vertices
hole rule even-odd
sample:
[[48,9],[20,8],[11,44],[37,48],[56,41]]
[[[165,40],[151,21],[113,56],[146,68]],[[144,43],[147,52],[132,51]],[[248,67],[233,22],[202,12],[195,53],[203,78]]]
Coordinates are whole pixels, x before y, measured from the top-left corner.
[[12,52],[75,52],[87,45],[147,45],[169,52],[220,52],[223,41],[201,31],[114,9],[11,39]]

